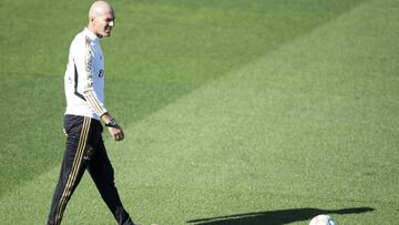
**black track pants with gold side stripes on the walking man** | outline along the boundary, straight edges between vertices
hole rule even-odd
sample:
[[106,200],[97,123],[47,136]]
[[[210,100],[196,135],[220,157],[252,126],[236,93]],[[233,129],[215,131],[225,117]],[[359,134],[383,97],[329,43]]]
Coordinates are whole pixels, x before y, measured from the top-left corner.
[[[122,206],[114,184],[113,168],[101,136],[103,130],[101,122],[84,116],[65,115],[64,130],[68,134],[66,147],[48,224],[61,224],[66,204],[88,168],[117,224],[133,225],[132,219]],[[93,206],[88,205],[88,207]],[[93,208],[93,211],[95,209]]]

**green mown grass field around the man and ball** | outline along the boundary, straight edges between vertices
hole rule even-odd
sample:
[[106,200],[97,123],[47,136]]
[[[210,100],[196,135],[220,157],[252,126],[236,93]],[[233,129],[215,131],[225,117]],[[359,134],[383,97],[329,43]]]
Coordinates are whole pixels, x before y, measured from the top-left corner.
[[[44,224],[91,1],[0,2],[0,224]],[[119,0],[104,133],[142,225],[397,224],[399,1]],[[63,224],[114,224],[89,175]]]

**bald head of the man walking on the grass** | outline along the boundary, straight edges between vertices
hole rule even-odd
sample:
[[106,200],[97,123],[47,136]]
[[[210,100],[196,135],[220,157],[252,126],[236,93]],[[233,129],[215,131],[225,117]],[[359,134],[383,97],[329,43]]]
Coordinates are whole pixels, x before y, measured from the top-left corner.
[[109,37],[114,27],[115,14],[112,6],[106,1],[94,1],[89,10],[89,30],[95,35]]

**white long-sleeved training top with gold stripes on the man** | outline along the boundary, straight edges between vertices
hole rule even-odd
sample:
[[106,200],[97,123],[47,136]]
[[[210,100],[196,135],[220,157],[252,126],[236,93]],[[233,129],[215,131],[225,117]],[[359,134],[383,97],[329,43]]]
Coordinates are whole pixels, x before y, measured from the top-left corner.
[[73,39],[65,76],[65,114],[100,120],[104,108],[104,57],[100,38],[84,29]]

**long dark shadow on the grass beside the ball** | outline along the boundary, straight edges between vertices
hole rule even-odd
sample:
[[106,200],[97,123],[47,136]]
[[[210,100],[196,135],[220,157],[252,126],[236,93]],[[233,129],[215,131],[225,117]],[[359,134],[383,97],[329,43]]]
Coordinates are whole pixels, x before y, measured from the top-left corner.
[[375,211],[375,208],[371,207],[355,207],[342,209],[290,208],[282,211],[236,214],[212,218],[198,218],[188,221],[187,223],[197,225],[280,225],[300,221],[309,221],[319,214],[358,214],[372,211]]

